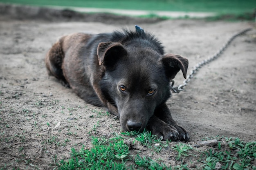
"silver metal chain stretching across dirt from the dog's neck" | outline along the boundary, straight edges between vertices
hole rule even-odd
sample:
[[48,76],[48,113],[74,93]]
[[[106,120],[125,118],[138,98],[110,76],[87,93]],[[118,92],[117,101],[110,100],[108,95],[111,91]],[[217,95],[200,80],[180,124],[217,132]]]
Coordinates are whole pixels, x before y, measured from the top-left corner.
[[220,56],[220,54],[227,48],[227,46],[229,46],[229,44],[238,36],[246,33],[247,31],[251,30],[251,28],[249,29],[245,29],[243,31],[240,31],[239,33],[236,33],[235,35],[233,35],[231,38],[229,38],[229,40],[223,44],[223,46],[220,48],[219,51],[217,51],[217,53],[215,53],[212,57],[209,57],[208,59],[205,59],[201,62],[199,62],[198,64],[196,64],[193,69],[190,71],[190,74],[188,76],[187,79],[184,80],[183,84],[180,84],[179,86],[174,86],[174,80],[171,80],[171,90],[173,91],[173,93],[180,93],[180,91],[183,91],[184,86],[187,85],[187,83],[193,78],[193,76],[195,75],[195,73],[199,70],[199,68],[201,68],[203,65],[208,64],[209,62],[215,60],[216,58],[218,58]]

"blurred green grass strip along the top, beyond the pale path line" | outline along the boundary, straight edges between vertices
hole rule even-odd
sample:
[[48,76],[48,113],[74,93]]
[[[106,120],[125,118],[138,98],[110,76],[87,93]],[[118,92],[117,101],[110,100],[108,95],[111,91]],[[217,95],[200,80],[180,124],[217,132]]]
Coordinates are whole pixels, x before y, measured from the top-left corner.
[[256,8],[255,0],[0,0],[0,2],[36,6],[56,5],[111,9],[200,11],[220,14],[252,13]]

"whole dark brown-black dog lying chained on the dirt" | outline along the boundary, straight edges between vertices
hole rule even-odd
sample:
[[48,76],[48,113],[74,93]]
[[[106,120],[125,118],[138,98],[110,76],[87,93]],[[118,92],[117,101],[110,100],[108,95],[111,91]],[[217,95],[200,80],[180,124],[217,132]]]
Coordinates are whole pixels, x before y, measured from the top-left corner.
[[159,139],[189,140],[166,105],[170,80],[180,70],[186,79],[189,62],[164,54],[161,42],[141,27],[63,36],[47,52],[45,64],[49,75],[85,102],[117,115],[122,131],[147,128]]

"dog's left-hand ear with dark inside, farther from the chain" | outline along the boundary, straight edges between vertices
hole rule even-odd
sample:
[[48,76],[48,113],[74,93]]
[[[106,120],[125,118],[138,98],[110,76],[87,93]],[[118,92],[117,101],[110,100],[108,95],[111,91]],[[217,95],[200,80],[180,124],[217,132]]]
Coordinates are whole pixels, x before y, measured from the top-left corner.
[[127,54],[127,51],[118,42],[101,42],[98,45],[97,54],[99,65],[103,64],[106,67],[112,67],[120,57]]

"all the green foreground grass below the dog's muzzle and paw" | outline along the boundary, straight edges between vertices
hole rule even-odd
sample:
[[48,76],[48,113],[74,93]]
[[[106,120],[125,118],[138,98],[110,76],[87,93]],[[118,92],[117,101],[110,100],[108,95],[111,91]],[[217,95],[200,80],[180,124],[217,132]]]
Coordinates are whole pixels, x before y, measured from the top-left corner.
[[[143,139],[142,139],[143,138]],[[199,169],[202,170],[256,170],[253,165],[256,159],[256,142],[244,142],[239,138],[225,138],[226,146],[218,145],[216,147],[208,147],[205,151],[197,150],[189,144],[178,143],[171,149],[176,152],[178,159],[177,165],[171,167],[164,162],[154,160],[150,157],[143,157],[140,154],[132,154],[131,148],[124,143],[124,139],[132,139],[138,141],[145,148],[153,148],[157,139],[150,132],[144,131],[142,133],[126,132],[115,137],[97,138],[92,137],[92,148],[85,149],[83,146],[81,150],[72,148],[70,158],[68,160],[60,160],[57,167],[60,170],[74,170],[74,169],[109,169],[109,170],[130,170],[130,169],[144,169],[144,170],[189,170],[188,160],[196,157]],[[216,138],[222,139],[222,138]],[[148,142],[152,141],[152,142]],[[157,141],[162,145],[166,141]],[[186,163],[183,160],[188,158]],[[194,159],[194,160],[195,160]]]

